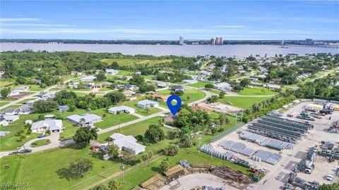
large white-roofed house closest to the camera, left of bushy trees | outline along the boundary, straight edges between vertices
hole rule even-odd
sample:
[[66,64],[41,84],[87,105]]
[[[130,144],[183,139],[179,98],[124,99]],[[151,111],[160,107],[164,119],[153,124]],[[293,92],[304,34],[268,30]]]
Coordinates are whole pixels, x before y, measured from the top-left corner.
[[137,155],[145,151],[145,146],[138,144],[136,138],[129,135],[126,136],[120,133],[114,133],[110,137],[113,141],[113,144],[117,145],[120,150],[125,150]]

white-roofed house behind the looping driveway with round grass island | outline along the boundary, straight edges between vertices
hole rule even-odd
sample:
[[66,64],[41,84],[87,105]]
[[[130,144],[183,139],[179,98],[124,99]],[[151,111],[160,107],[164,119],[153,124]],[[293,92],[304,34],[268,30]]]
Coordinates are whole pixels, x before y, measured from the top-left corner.
[[38,122],[33,122],[30,129],[35,133],[47,132],[62,132],[62,120],[42,120]]

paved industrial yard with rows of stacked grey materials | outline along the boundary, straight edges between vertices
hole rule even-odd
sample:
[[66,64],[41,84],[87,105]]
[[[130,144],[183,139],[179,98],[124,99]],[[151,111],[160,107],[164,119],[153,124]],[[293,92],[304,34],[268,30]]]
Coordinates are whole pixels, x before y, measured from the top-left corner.
[[[325,103],[298,101],[290,105],[288,110],[280,113],[280,117],[263,116],[205,147],[208,151],[213,150],[210,151],[213,156],[230,161],[241,159],[248,162],[250,167],[268,170],[261,181],[247,186],[246,189],[262,189],[263,187],[284,189],[290,172],[302,165],[303,158],[304,165],[296,172],[296,177],[299,177],[297,180],[302,184],[309,186],[315,184],[316,186],[317,183],[338,183],[336,167],[339,166],[339,150],[337,149],[339,134],[336,132],[338,125],[335,126],[335,123],[339,120],[339,111],[331,109],[331,114],[321,114],[319,108],[322,104],[323,109],[327,109]],[[317,105],[314,107],[319,110],[310,112],[305,110],[305,107],[310,105]],[[333,103],[333,108],[337,105],[338,103]],[[290,113],[294,115],[291,117]],[[313,113],[314,116],[309,113]],[[331,130],[330,127],[332,127]],[[328,144],[333,144],[332,151],[325,150],[324,144],[326,147]],[[317,153],[314,158],[310,158],[309,151],[314,146],[316,146]],[[327,153],[327,156],[323,155],[324,153]],[[333,159],[330,161],[328,156],[331,155]],[[307,166],[311,167],[310,174],[304,171]]]

